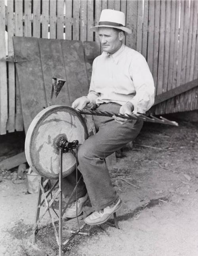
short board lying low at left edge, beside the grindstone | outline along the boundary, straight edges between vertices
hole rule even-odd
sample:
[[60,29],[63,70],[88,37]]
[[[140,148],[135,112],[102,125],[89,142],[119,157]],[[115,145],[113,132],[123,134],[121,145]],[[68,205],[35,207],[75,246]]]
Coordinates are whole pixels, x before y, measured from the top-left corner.
[[25,157],[25,152],[19,153],[13,157],[9,157],[0,162],[0,169],[1,170],[10,170],[20,164],[27,162]]

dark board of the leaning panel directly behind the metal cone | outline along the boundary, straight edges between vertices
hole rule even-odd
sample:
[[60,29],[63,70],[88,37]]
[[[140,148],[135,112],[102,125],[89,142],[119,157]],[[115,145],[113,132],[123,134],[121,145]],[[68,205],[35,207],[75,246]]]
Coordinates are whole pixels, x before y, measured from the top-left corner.
[[[40,38],[38,39],[38,46],[40,50],[46,99],[47,103],[49,103],[52,88],[51,78],[56,77],[67,81],[61,40]],[[64,84],[57,98],[53,96],[51,104],[70,105],[67,82]]]

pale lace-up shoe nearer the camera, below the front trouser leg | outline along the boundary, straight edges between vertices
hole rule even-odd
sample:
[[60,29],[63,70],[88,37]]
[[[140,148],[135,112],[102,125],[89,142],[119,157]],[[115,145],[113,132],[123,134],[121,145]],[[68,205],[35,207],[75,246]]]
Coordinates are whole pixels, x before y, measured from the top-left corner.
[[122,206],[122,201],[119,198],[118,202],[105,207],[102,210],[95,211],[84,219],[84,222],[88,225],[98,225],[106,222],[109,217],[116,212]]

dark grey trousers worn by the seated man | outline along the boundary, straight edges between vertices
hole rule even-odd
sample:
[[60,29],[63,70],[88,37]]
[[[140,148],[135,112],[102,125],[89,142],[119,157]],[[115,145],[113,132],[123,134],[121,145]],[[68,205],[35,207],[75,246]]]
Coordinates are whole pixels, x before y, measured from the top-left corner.
[[[119,113],[120,105],[103,103],[99,105],[98,110]],[[83,176],[78,185],[78,198],[88,192],[93,210],[101,210],[118,198],[110,180],[105,157],[135,139],[143,126],[143,121],[130,120],[125,124],[119,124],[112,117],[93,118],[97,133],[86,139],[78,149],[78,169]],[[75,185],[74,171],[63,180],[63,194],[69,196]]]

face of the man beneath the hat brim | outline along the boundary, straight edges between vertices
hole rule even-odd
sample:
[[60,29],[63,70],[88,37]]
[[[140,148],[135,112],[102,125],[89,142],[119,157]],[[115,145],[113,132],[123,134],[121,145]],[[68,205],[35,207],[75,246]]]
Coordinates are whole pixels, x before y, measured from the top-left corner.
[[122,32],[118,32],[109,27],[99,27],[98,29],[99,38],[104,52],[113,54],[120,49],[122,45]]

